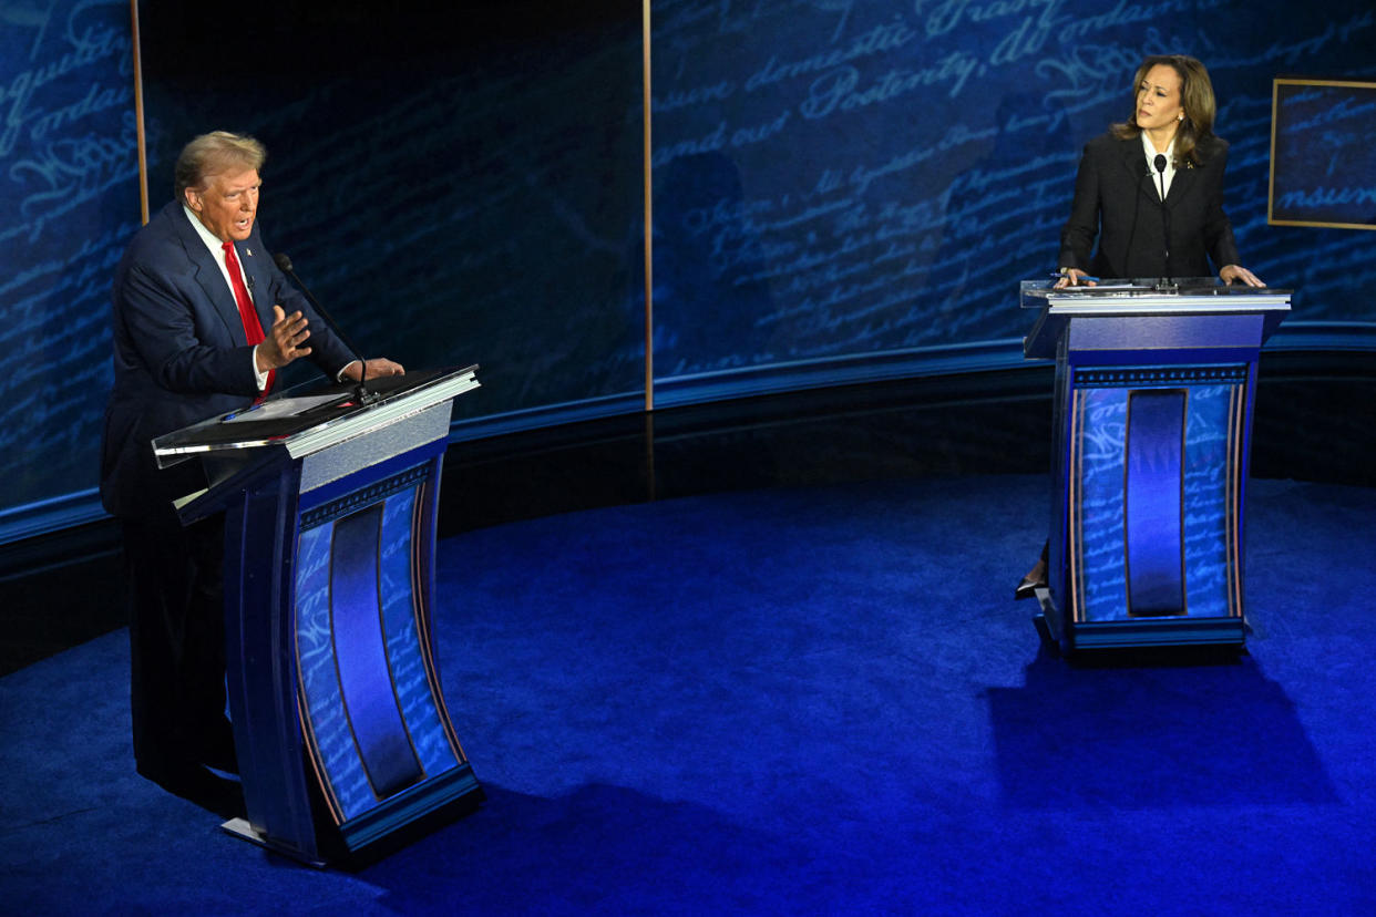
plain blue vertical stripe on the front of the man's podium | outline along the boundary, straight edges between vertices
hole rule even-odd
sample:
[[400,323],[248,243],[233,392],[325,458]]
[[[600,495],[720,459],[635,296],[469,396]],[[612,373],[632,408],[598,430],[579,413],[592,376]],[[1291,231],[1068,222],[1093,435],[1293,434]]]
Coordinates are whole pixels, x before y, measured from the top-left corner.
[[334,654],[359,756],[378,797],[421,778],[420,763],[396,707],[384,649],[378,598],[381,505],[334,524],[330,569]]

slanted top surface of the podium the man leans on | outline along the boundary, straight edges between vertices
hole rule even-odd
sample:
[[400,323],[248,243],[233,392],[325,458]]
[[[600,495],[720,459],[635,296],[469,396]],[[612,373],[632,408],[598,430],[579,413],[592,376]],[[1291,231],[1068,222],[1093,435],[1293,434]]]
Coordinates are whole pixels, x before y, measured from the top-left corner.
[[311,455],[347,439],[381,429],[479,388],[477,366],[407,373],[370,379],[367,403],[351,382],[293,390],[239,411],[212,417],[153,440],[158,465],[193,455],[274,447],[290,458]]

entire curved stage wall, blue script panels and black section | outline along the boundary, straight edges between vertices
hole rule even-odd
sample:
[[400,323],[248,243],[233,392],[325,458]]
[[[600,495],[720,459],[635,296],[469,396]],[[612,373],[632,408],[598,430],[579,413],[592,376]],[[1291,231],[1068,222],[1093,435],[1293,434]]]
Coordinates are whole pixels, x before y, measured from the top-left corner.
[[[455,437],[644,406],[641,4],[186,5],[140,4],[151,206],[190,136],[255,133],[267,242],[350,335],[483,366]],[[0,18],[12,540],[99,517],[138,165],[129,4]],[[654,3],[655,404],[1017,364],[1015,283],[1150,52],[1211,69],[1240,246],[1299,290],[1273,345],[1376,348],[1372,236],[1266,224],[1271,80],[1370,80],[1373,41],[1365,0]]]

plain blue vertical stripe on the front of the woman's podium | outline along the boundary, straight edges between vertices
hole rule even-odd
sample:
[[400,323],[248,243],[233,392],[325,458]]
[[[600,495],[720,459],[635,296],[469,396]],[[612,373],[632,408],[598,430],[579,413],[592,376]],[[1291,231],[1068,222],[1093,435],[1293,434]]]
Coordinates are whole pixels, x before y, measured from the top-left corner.
[[1124,527],[1128,615],[1185,613],[1185,392],[1128,399]]

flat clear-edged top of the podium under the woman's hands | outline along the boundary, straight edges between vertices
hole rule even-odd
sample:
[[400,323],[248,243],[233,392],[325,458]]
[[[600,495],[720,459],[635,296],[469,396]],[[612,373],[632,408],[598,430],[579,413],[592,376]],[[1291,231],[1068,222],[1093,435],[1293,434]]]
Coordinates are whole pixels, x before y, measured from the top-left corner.
[[1104,279],[1097,286],[1053,289],[1055,280],[1022,280],[1020,305],[1062,315],[1187,315],[1214,312],[1288,312],[1293,290],[1229,286],[1216,278],[1157,280]]

